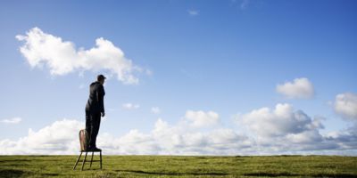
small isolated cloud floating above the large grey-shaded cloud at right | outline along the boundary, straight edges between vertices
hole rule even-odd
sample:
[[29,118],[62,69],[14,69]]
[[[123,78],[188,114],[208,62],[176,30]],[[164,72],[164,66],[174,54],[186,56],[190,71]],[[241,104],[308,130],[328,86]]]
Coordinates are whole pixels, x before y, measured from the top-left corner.
[[277,92],[289,99],[309,99],[314,95],[314,88],[308,78],[295,78],[294,82],[277,85]]

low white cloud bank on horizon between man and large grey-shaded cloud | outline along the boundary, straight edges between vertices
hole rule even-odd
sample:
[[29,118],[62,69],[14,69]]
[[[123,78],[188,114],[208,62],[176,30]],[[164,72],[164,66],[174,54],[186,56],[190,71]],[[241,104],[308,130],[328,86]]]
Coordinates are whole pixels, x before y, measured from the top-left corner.
[[[102,141],[98,142],[99,146]],[[251,145],[245,135],[237,134],[232,129],[217,128],[200,132],[183,123],[169,125],[158,118],[150,133],[133,129],[106,149],[111,154],[222,155],[249,152]]]

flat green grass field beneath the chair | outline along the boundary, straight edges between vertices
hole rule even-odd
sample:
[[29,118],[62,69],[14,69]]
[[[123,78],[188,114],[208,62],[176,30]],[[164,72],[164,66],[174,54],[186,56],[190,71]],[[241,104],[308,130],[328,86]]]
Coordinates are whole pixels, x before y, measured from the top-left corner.
[[357,177],[357,157],[104,156],[73,171],[76,158],[0,156],[0,177]]

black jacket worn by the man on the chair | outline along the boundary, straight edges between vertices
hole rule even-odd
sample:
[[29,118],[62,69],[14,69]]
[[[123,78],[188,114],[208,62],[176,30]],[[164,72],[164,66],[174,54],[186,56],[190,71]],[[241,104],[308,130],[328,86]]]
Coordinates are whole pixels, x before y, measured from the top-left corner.
[[89,85],[89,99],[86,105],[86,111],[95,114],[104,112],[104,87],[99,82],[93,82]]

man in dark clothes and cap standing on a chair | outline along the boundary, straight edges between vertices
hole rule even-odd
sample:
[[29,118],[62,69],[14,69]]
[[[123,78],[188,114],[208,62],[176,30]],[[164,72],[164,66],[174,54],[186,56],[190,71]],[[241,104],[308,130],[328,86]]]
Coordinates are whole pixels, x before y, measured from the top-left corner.
[[[88,141],[87,150],[99,151],[96,148],[96,136],[99,132],[101,115],[104,117],[104,80],[106,77],[98,75],[96,81],[89,85],[89,99],[86,105],[86,131]],[[89,144],[88,144],[89,143]]]

